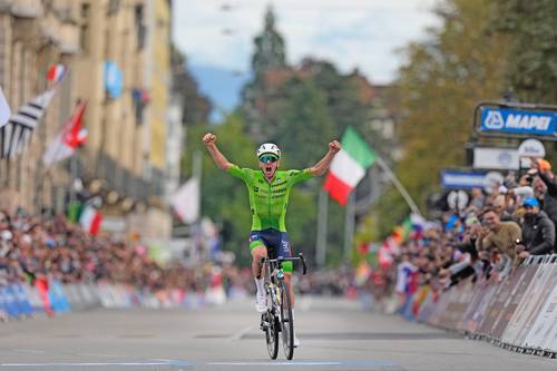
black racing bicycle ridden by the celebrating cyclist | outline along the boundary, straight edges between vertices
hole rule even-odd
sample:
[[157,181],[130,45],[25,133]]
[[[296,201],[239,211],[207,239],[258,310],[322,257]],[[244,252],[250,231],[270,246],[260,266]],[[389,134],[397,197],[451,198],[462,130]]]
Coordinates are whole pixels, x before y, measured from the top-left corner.
[[295,257],[263,257],[260,262],[260,272],[265,269],[265,291],[267,293],[267,311],[261,315],[261,330],[265,332],[265,341],[271,359],[278,354],[278,333],[282,333],[284,355],[292,360],[294,357],[294,319],[292,318],[292,299],[284,281],[282,264],[285,262],[301,262],[303,274],[307,272],[303,254]]

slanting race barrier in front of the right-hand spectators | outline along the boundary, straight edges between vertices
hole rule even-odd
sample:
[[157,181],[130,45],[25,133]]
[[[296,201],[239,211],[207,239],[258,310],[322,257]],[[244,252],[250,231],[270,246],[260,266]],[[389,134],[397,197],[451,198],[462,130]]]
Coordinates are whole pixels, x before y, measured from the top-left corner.
[[423,286],[405,318],[499,346],[557,357],[557,255],[530,256],[500,283],[466,281],[439,294]]

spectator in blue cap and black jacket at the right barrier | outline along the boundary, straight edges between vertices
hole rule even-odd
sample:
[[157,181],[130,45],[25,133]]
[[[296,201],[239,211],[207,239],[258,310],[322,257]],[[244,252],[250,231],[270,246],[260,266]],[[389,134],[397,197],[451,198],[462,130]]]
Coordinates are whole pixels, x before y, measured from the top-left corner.
[[526,258],[529,255],[550,254],[555,245],[555,225],[547,214],[539,209],[539,202],[535,197],[526,198],[522,206],[522,244],[526,250],[518,256]]

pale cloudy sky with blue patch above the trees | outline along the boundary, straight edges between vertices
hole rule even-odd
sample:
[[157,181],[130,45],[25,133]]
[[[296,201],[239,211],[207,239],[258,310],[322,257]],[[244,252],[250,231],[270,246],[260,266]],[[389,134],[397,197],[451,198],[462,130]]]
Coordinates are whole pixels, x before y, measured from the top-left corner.
[[175,0],[173,38],[203,92],[231,109],[248,79],[253,38],[271,4],[286,58],[326,59],[342,72],[358,68],[372,84],[393,80],[410,41],[437,26],[441,0]]

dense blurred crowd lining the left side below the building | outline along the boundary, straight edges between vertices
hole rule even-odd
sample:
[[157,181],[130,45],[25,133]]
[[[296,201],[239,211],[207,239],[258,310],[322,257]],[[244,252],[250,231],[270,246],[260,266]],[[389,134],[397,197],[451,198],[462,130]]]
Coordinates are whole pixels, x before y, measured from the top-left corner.
[[[227,289],[245,285],[248,279],[234,266],[217,275]],[[214,284],[215,266],[183,261],[162,265],[138,238],[91,236],[63,216],[0,213],[0,286],[52,279],[62,284],[104,282],[153,292],[204,292]]]

